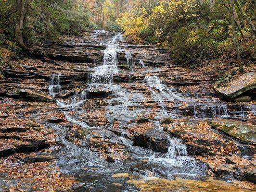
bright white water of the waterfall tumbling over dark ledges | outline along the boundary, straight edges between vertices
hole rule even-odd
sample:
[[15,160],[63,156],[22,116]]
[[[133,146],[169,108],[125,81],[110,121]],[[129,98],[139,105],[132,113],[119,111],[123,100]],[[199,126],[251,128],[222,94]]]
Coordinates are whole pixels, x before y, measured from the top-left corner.
[[[108,106],[106,107],[108,111],[112,112],[113,119],[117,118],[120,119],[136,119],[137,113],[136,109],[129,110],[128,106],[130,104],[133,105],[133,102],[136,102],[137,100],[142,101],[143,96],[139,93],[128,93],[122,86],[113,84],[113,74],[117,73],[117,51],[119,50],[118,42],[122,40],[122,36],[119,33],[116,35],[112,41],[108,42],[107,48],[104,51],[104,57],[103,57],[103,63],[101,66],[97,67],[95,69],[94,73],[91,73],[88,75],[88,85],[90,87],[99,87],[103,86],[104,88],[107,88],[108,90],[111,90],[113,92],[112,96],[113,98],[109,99]],[[132,65],[132,56],[127,52],[127,62],[128,65]],[[140,60],[141,61],[141,60]],[[143,63],[143,60],[142,60]],[[141,64],[142,64],[141,63]],[[142,64],[143,65],[143,64]],[[50,86],[54,87],[55,85],[60,90],[59,85],[60,78],[56,77],[52,78],[52,81],[50,82]],[[165,84],[162,84],[161,80],[156,76],[146,76],[145,82],[148,84],[152,97],[155,102],[158,102],[163,110],[165,110],[165,100],[167,101],[174,101],[174,100],[183,100],[183,98],[178,94],[175,93],[172,89],[167,87]],[[49,92],[50,90],[53,90],[49,86]],[[54,91],[51,91],[50,94],[54,94]],[[82,92],[77,92],[75,95],[71,98],[68,102],[62,102],[60,100],[57,100],[57,103],[62,108],[75,108],[81,104],[83,104],[87,99],[87,91],[83,90]],[[55,96],[55,95],[54,95]],[[138,109],[139,110],[139,109]],[[85,122],[76,120],[75,118],[71,117],[70,114],[65,112],[65,117],[69,122],[75,123],[82,128],[90,130],[91,127],[88,126]],[[163,130],[161,130],[163,131]],[[119,137],[121,141],[123,141],[123,144],[128,145],[132,150],[135,150],[138,147],[132,146],[132,142],[124,137],[124,134],[126,133],[126,130],[123,130],[122,135]],[[62,133],[63,134],[63,133]],[[64,134],[63,134],[64,135]],[[74,144],[66,141],[64,139],[64,136],[62,137],[62,142],[66,145],[66,150],[70,152],[71,155],[76,154],[80,156],[80,154],[85,153],[88,154],[87,150],[81,150],[80,147],[74,146]],[[177,138],[170,138],[169,139],[169,147],[168,152],[166,154],[162,153],[154,153],[151,150],[146,149],[140,149],[138,150],[139,158],[148,160],[154,164],[157,164],[160,166],[160,169],[158,170],[161,172],[161,168],[165,168],[165,172],[167,175],[171,175],[173,173],[180,173],[180,168],[182,170],[184,169],[184,174],[196,174],[197,172],[193,169],[196,169],[196,163],[195,160],[192,157],[189,157],[187,154],[187,149],[184,144],[182,144],[179,139]],[[77,152],[76,152],[77,151]],[[144,151],[141,153],[141,151]],[[68,154],[69,154],[68,152]],[[137,153],[137,152],[135,152]],[[179,167],[178,170],[172,170],[170,168],[173,168],[173,166]],[[187,170],[186,168],[190,168],[191,170]]]

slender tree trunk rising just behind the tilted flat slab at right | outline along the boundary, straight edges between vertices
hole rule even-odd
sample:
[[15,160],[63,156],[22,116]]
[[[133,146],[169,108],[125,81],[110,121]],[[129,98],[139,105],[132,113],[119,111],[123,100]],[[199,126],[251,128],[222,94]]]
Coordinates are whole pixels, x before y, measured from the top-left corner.
[[236,31],[235,31],[235,19],[234,19],[235,7],[234,7],[233,0],[230,0],[230,2],[231,2],[231,6],[232,6],[232,8],[231,8],[231,26],[232,26],[233,42],[234,42],[234,46],[235,46],[235,50],[236,50],[236,57],[237,57],[237,63],[239,66],[239,70],[241,73],[243,73],[243,65],[242,65],[242,61],[241,61],[240,50],[238,47]]

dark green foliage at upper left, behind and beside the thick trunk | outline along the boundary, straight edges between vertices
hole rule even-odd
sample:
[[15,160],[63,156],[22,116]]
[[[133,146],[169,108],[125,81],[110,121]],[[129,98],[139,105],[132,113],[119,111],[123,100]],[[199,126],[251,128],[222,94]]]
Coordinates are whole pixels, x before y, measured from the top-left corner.
[[[0,0],[0,33],[8,41],[15,41],[16,0]],[[40,43],[60,34],[77,35],[96,27],[90,12],[76,0],[26,0],[23,38],[26,44]],[[0,41],[3,36],[0,36]]]

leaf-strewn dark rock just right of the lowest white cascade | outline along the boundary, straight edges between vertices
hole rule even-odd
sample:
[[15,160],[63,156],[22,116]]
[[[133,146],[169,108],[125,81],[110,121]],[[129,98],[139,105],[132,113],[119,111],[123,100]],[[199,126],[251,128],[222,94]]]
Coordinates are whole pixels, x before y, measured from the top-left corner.
[[[189,155],[214,155],[221,149],[229,147],[231,151],[237,151],[233,142],[228,142],[220,134],[214,132],[206,121],[180,121],[164,127],[164,131],[174,137],[178,137],[187,145]],[[225,151],[222,151],[225,153]]]

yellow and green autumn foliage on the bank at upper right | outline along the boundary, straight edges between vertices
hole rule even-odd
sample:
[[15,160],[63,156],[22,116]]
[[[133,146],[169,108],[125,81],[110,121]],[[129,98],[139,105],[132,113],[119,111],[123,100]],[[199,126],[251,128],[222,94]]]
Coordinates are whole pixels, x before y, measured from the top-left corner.
[[[151,9],[145,5],[141,7],[140,4],[131,12],[124,13],[117,22],[132,43],[164,46],[172,51],[176,62],[198,69],[209,68],[209,71],[213,72],[210,65],[223,68],[223,60],[235,60],[236,53],[230,12],[223,4],[225,2],[230,6],[230,1],[215,0],[212,5],[209,2],[168,0],[160,1]],[[255,10],[250,6],[252,0],[240,2],[255,21]],[[255,44],[252,42],[255,42],[255,37],[239,10],[237,12],[249,50],[254,53]],[[241,58],[245,59],[249,55],[248,50],[240,32],[237,30],[236,33]]]

